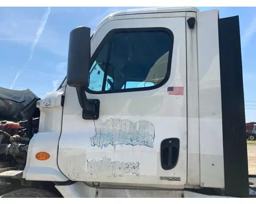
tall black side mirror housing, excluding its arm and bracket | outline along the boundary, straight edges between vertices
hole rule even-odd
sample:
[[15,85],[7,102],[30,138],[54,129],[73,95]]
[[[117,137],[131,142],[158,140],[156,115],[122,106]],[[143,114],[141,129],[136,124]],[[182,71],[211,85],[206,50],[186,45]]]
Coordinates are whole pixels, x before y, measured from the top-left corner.
[[90,81],[91,29],[77,27],[70,33],[67,84],[88,87]]

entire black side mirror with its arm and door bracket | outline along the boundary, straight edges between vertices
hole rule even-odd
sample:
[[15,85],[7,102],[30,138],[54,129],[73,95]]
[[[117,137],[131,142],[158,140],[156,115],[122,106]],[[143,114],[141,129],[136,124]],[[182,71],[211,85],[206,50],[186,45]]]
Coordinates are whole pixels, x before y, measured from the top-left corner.
[[91,29],[77,27],[70,33],[67,84],[76,88],[82,118],[99,118],[99,100],[87,99],[85,88],[90,83]]

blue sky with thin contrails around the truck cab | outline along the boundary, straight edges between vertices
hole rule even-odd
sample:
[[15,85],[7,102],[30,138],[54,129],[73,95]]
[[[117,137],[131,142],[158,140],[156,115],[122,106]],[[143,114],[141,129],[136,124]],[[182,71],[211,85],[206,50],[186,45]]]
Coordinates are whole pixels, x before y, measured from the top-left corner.
[[[0,87],[29,88],[44,98],[67,73],[70,31],[79,25],[93,31],[102,18],[132,7],[1,7]],[[246,122],[256,121],[256,7],[219,9],[220,17],[239,15]]]

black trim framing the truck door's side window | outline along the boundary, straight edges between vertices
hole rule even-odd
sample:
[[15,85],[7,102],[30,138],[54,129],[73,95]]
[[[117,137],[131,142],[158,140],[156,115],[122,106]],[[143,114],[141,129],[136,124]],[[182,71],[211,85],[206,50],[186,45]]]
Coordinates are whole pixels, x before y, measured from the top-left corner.
[[[114,34],[116,34],[116,33],[133,33],[133,32],[159,32],[159,31],[167,33],[170,37],[170,49],[169,49],[169,56],[168,56],[168,63],[167,63],[167,73],[165,75],[165,78],[159,84],[157,84],[155,86],[150,86],[150,87],[128,88],[128,89],[118,89],[118,90],[104,90],[104,91],[102,91],[102,90],[101,91],[93,91],[93,90],[89,89],[89,87],[86,87],[85,91],[90,94],[123,93],[123,92],[154,90],[154,89],[157,89],[157,88],[163,86],[169,80],[169,77],[170,77],[170,70],[171,70],[172,57],[173,57],[173,48],[174,48],[174,34],[168,28],[157,27],[157,28],[113,29],[108,34],[105,35],[103,40],[100,42],[100,44],[96,48],[94,54],[91,57],[90,67],[93,65],[99,52],[101,51],[101,48],[105,45],[105,43],[109,43],[108,54],[107,54],[107,58],[108,58],[107,60],[109,61],[109,59],[110,59],[109,51],[111,50],[112,39],[113,39]],[[105,86],[103,86],[103,85],[104,85],[104,82],[106,83],[106,76],[108,73],[108,64],[109,64],[108,61],[106,62],[106,67],[105,67],[105,71],[104,71],[102,89],[103,89],[103,87],[105,88]]]

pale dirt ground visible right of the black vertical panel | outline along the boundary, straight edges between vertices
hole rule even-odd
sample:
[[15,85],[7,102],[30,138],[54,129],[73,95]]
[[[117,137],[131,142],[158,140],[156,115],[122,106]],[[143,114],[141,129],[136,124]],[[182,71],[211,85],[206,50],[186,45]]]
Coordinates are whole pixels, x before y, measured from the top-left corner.
[[256,141],[247,141],[248,171],[256,174]]

